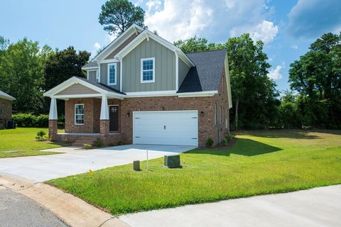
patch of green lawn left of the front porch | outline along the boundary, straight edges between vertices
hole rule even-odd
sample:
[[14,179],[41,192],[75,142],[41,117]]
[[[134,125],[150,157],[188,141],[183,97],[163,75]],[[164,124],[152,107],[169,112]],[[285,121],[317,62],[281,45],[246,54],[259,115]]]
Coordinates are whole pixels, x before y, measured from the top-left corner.
[[0,130],[0,158],[33,155],[53,155],[55,152],[40,150],[59,148],[65,143],[51,143],[36,141],[36,133],[40,130],[48,133],[47,128],[15,128]]

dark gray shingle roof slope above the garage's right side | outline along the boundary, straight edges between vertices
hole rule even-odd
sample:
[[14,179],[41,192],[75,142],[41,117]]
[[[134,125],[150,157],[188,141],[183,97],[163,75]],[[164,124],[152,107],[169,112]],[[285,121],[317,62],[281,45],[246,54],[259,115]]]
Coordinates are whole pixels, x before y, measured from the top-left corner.
[[217,91],[226,54],[227,50],[186,53],[195,67],[188,71],[178,93]]

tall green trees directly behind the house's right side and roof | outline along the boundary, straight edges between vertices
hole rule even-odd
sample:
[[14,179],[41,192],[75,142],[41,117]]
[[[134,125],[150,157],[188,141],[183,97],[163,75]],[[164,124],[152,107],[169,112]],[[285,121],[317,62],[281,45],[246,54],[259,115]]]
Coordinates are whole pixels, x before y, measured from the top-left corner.
[[234,128],[266,128],[276,121],[275,82],[267,77],[270,67],[263,43],[254,42],[249,34],[229,38],[226,43],[208,43],[196,36],[174,43],[185,52],[227,50],[231,76]]

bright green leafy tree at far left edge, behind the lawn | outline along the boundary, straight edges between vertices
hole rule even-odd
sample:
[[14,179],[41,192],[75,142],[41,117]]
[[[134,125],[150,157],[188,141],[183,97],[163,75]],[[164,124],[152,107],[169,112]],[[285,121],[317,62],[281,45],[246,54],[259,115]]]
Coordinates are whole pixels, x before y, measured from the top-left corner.
[[0,55],[0,89],[16,98],[13,110],[40,114],[43,109],[45,46],[27,38],[9,45]]

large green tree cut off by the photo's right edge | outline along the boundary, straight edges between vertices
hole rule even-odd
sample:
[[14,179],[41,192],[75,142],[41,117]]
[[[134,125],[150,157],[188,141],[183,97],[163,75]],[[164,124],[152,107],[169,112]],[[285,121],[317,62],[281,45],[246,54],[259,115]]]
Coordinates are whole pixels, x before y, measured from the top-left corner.
[[303,127],[341,127],[341,33],[326,33],[291,64],[289,83],[300,96]]

